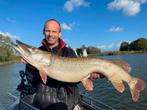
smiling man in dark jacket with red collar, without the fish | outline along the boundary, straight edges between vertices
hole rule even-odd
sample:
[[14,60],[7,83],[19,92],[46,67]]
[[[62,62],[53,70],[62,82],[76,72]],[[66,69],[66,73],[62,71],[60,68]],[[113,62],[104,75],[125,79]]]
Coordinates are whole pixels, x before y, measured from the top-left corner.
[[[57,20],[49,19],[46,21],[43,34],[45,39],[42,40],[42,46],[40,46],[39,49],[51,52],[57,56],[76,57],[74,51],[66,47],[66,44],[60,38],[61,26]],[[25,62],[25,60],[22,59],[22,62]],[[30,64],[26,65],[26,72],[33,75],[32,85],[37,88],[33,103],[39,109],[73,110],[76,105],[80,104],[80,95],[77,87],[78,83],[57,81],[47,77]],[[91,77],[97,78],[98,75],[95,74]],[[79,108],[79,106],[76,107]]]

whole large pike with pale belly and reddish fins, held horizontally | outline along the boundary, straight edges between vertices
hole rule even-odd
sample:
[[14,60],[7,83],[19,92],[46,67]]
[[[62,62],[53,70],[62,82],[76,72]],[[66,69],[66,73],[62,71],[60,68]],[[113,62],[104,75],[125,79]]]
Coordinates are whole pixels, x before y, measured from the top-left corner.
[[[16,41],[13,47],[29,64],[40,71],[42,80],[45,75],[63,82],[82,82],[88,90],[93,89],[89,79],[92,73],[101,73],[111,81],[114,88],[122,93],[125,90],[124,82],[129,85],[132,100],[138,100],[140,91],[145,88],[143,80],[129,74],[129,64],[121,61],[112,61],[98,58],[65,58],[52,55],[35,47]],[[44,81],[45,82],[45,81]]]

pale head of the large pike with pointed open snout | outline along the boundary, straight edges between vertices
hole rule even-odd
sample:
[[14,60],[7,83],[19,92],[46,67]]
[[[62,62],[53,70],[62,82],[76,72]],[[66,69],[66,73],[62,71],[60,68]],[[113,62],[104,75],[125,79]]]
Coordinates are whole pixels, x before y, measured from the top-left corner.
[[37,69],[46,67],[51,63],[51,54],[49,52],[42,51],[18,40],[16,41],[16,44],[12,45],[26,62],[36,67]]

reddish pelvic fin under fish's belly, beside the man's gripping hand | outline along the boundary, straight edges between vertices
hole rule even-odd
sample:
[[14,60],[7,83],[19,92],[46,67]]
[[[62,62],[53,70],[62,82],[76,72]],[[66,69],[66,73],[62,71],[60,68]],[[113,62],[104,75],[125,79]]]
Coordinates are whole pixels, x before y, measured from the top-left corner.
[[90,79],[83,79],[81,82],[86,90],[93,90],[93,82]]

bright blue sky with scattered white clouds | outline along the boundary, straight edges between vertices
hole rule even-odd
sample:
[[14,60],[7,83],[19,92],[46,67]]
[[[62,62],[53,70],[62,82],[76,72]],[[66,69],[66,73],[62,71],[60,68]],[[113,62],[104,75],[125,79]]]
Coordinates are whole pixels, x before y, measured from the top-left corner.
[[0,34],[13,40],[39,47],[51,18],[72,48],[112,51],[123,41],[147,38],[147,0],[0,0]]

